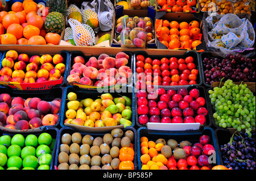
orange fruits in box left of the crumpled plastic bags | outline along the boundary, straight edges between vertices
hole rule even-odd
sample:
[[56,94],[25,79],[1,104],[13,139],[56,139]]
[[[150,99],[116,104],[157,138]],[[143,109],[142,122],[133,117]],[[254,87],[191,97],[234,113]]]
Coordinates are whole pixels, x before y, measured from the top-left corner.
[[[156,20],[156,35],[160,43],[168,49],[196,49],[201,44],[200,24],[196,20],[190,23],[168,20]],[[161,23],[162,22],[162,23]]]

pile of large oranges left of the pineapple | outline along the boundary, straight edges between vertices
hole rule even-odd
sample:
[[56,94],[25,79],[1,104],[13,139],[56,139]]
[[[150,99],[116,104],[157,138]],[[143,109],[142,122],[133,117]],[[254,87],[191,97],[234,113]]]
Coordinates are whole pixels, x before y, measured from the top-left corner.
[[48,7],[33,0],[15,2],[11,11],[0,12],[0,44],[57,45],[58,33],[46,32]]

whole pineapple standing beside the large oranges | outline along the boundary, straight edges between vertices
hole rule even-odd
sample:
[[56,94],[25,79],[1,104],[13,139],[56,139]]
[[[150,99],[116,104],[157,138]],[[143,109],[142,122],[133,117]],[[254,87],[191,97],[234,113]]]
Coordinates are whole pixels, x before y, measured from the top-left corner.
[[48,0],[49,14],[46,16],[44,28],[47,32],[61,33],[65,27],[67,3],[65,0]]

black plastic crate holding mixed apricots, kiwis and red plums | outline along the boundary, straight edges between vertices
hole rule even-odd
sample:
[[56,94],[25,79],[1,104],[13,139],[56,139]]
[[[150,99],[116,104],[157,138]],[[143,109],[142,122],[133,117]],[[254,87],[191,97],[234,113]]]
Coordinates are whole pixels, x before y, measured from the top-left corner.
[[137,130],[137,143],[138,143],[138,169],[141,170],[142,167],[142,163],[141,163],[141,148],[140,148],[140,138],[145,136],[148,138],[148,141],[156,141],[159,138],[163,138],[164,140],[169,140],[169,139],[174,139],[176,140],[178,143],[180,143],[181,141],[189,141],[191,142],[191,144],[195,144],[196,142],[199,142],[199,138],[200,136],[202,136],[203,134],[207,134],[208,136],[210,136],[210,140],[214,149],[216,151],[216,162],[212,164],[212,166],[215,165],[220,165],[220,153],[218,151],[218,144],[217,144],[217,140],[214,134],[214,131],[212,128],[209,127],[205,127],[203,129],[201,129],[198,132],[152,132],[152,131],[148,131],[148,129],[146,127],[141,127]]

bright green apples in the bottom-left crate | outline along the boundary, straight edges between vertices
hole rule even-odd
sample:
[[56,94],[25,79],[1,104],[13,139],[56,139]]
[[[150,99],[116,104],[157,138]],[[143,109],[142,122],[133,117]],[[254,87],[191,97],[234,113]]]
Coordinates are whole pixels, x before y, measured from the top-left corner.
[[50,170],[56,139],[49,133],[0,137],[0,170]]

